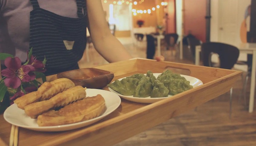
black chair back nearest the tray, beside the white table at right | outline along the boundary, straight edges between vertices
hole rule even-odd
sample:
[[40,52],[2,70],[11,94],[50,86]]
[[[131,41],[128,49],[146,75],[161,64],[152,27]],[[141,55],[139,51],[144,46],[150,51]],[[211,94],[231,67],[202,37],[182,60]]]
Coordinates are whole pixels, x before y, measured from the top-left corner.
[[231,69],[237,62],[239,49],[235,46],[220,42],[206,42],[202,44],[202,56],[204,66],[212,67],[211,55],[217,53],[220,60],[220,68]]

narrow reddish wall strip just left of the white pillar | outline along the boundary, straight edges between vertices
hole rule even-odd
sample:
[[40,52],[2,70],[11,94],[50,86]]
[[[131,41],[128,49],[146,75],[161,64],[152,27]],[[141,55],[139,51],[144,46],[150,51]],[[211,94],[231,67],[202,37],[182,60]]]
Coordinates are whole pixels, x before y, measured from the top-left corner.
[[175,0],[168,0],[167,2],[167,33],[176,33]]

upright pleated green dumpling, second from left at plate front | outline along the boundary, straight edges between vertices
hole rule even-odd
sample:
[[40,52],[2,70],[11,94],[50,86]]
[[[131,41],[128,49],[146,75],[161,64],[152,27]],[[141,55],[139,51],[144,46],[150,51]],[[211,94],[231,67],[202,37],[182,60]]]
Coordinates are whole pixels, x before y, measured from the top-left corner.
[[152,91],[153,85],[150,82],[150,78],[148,76],[143,76],[136,87],[133,97],[148,97]]

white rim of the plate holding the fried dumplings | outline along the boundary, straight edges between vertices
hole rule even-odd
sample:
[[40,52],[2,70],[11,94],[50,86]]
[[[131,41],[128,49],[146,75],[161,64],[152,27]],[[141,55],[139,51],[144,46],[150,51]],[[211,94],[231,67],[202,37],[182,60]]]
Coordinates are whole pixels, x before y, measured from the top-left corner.
[[[86,90],[101,90],[101,92],[103,91],[103,92],[110,92],[110,91],[107,91],[107,90],[102,90],[102,89],[91,89],[91,88],[87,88]],[[111,94],[113,93],[113,92],[110,92]],[[99,93],[100,94],[100,93]],[[115,93],[114,93],[115,94]],[[115,94],[116,95],[116,94]],[[102,95],[102,97],[104,98],[104,95]],[[113,96],[111,96],[111,98],[113,98]],[[12,106],[17,106],[17,104],[12,104],[12,105],[10,105],[5,111],[4,111],[4,113],[3,113],[3,118],[4,118],[4,120],[5,121],[7,121],[8,123],[10,123],[10,124],[12,124],[12,125],[15,125],[15,126],[19,126],[19,127],[22,127],[22,128],[26,128],[26,129],[31,129],[31,130],[35,130],[35,131],[47,131],[47,130],[49,130],[49,132],[53,132],[53,131],[68,131],[68,130],[61,130],[62,128],[68,128],[68,127],[72,127],[72,126],[77,126],[77,125],[82,125],[82,124],[85,124],[85,123],[87,123],[87,122],[91,122],[91,121],[94,121],[94,120],[101,120],[101,119],[103,119],[103,118],[105,118],[107,115],[109,115],[109,114],[111,114],[113,111],[115,111],[119,106],[120,106],[120,104],[121,104],[121,98],[118,96],[118,95],[116,95],[116,97],[115,97],[117,100],[118,100],[118,103],[117,103],[117,106],[116,107],[114,107],[111,111],[109,111],[109,112],[107,112],[106,114],[101,114],[100,116],[98,116],[98,117],[96,117],[96,118],[93,118],[93,119],[90,119],[90,120],[86,120],[86,121],[81,121],[81,122],[76,122],[76,123],[71,123],[71,124],[65,124],[65,125],[58,125],[58,126],[26,126],[26,125],[20,125],[20,124],[16,124],[16,123],[13,123],[13,122],[11,122],[11,121],[9,121],[8,120],[8,118],[6,118],[6,110],[8,109],[8,108],[11,108]],[[24,109],[21,109],[21,110],[24,110]],[[107,110],[107,109],[106,109]],[[34,120],[37,120],[37,119],[34,119]],[[99,121],[98,120],[98,121]],[[97,122],[97,121],[95,121],[95,122]],[[95,123],[95,122],[93,122],[93,123]],[[93,123],[91,123],[91,124],[93,124]],[[91,125],[91,124],[89,124],[89,125]],[[86,126],[89,126],[89,125],[86,125]],[[73,130],[73,129],[77,129],[77,128],[81,128],[81,127],[85,127],[85,126],[80,126],[80,127],[76,127],[76,128],[71,128],[71,129],[69,129],[69,130]],[[51,129],[57,129],[57,130],[51,130]]]

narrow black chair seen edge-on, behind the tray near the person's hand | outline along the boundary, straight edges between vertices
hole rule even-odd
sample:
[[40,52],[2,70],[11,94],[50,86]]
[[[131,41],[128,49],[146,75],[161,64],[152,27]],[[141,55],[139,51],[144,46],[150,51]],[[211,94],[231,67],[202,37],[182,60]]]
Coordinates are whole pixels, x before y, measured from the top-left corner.
[[147,37],[147,59],[153,59],[155,55],[155,38],[152,35]]

